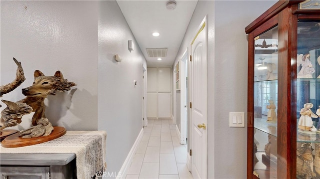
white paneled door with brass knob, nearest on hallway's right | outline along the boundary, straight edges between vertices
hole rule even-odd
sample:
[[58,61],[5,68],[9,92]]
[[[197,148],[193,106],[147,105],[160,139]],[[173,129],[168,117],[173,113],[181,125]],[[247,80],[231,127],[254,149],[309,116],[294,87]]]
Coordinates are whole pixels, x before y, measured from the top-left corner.
[[[191,43],[191,173],[193,179],[207,175],[207,32],[205,20]],[[199,126],[203,125],[203,126]]]

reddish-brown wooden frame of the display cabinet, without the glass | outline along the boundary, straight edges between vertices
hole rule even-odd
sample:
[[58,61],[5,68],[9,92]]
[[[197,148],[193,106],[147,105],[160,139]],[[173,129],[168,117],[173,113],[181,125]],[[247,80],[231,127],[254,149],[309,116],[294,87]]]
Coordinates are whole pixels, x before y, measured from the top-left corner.
[[253,175],[254,158],[254,38],[278,27],[277,178],[296,178],[296,85],[298,19],[320,20],[320,10],[298,9],[303,0],[279,0],[245,27],[248,34],[247,179]]

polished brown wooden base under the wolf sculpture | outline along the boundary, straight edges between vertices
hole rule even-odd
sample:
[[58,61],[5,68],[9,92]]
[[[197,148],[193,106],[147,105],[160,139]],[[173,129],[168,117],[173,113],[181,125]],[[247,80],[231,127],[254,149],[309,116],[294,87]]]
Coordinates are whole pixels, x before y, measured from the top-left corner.
[[40,144],[43,142],[51,141],[58,137],[63,136],[66,133],[64,127],[55,126],[53,127],[53,131],[48,136],[41,136],[37,138],[21,138],[19,137],[19,133],[13,134],[9,137],[6,137],[2,142],[1,146],[6,148],[14,148],[14,147],[23,147],[23,146],[31,146],[34,144]]

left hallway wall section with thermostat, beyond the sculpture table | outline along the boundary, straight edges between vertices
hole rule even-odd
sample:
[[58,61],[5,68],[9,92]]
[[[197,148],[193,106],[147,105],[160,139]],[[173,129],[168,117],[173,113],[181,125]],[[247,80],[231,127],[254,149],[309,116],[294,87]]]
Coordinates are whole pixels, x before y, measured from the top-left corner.
[[[108,134],[107,172],[116,173],[142,129],[142,65],[146,69],[146,62],[116,1],[99,1],[98,40],[98,130]],[[131,52],[128,40],[135,43]],[[121,62],[114,60],[116,53]]]

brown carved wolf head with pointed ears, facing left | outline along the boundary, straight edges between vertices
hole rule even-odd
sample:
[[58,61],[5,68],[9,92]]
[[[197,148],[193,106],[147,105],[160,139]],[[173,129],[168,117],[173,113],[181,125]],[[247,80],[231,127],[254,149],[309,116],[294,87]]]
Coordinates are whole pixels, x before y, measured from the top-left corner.
[[60,71],[56,71],[53,76],[45,76],[41,71],[34,71],[33,85],[22,89],[22,94],[28,97],[42,97],[47,95],[56,95],[56,92],[70,90],[71,86],[75,86],[73,82],[63,79]]

